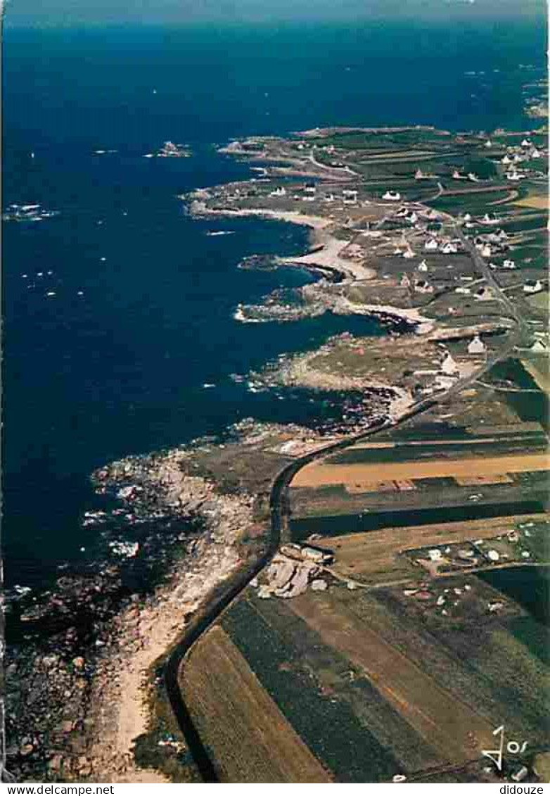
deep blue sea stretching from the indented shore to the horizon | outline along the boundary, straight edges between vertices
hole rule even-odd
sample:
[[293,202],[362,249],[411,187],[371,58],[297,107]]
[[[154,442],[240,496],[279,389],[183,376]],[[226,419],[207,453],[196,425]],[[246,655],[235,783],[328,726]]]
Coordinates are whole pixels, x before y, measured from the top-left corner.
[[[521,128],[521,87],[541,76],[544,46],[542,21],[6,29],[3,202],[60,211],[3,233],[8,584],[41,585],[78,560],[93,533],[79,524],[87,478],[101,463],[243,416],[302,422],[317,411],[228,380],[351,322],[233,321],[237,302],[307,279],[239,271],[240,259],[300,252],[306,233],[185,217],[178,193],[250,175],[213,142],[332,123]],[[194,157],[142,158],[166,139]],[[235,234],[205,236],[223,228]]]

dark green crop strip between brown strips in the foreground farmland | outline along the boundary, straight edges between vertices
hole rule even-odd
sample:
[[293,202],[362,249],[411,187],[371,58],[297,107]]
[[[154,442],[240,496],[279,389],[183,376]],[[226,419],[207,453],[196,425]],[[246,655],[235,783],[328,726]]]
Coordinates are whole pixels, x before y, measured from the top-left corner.
[[[341,685],[365,693],[368,683],[361,683],[356,672],[358,683],[354,681],[352,688],[349,661],[323,645],[282,601],[240,600],[222,624],[267,693],[337,781],[380,782],[400,770],[392,752],[356,715],[349,699],[338,693]],[[327,678],[331,685],[324,685]],[[416,767],[431,755],[426,751],[422,756],[407,730],[410,764]]]

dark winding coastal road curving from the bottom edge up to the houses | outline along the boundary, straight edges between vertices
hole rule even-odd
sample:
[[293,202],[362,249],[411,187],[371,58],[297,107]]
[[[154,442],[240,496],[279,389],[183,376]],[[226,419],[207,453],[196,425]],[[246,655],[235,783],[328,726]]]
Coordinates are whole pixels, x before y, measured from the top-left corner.
[[[453,217],[448,218],[452,220],[453,224],[456,224],[456,221]],[[181,732],[185,737],[185,741],[193,755],[193,759],[197,764],[197,768],[204,782],[219,782],[220,779],[216,772],[213,759],[206,750],[205,745],[202,743],[201,736],[197,732],[197,728],[193,723],[193,717],[190,715],[189,709],[185,705],[185,701],[181,695],[181,689],[179,686],[179,673],[182,661],[193,644],[197,642],[199,638],[201,638],[202,634],[209,630],[209,627],[211,627],[213,623],[220,618],[220,615],[226,609],[228,609],[229,606],[231,606],[233,601],[240,596],[241,592],[244,591],[250,581],[257,576],[259,572],[261,572],[269,563],[271,558],[275,555],[275,552],[277,552],[279,549],[281,540],[284,540],[284,538],[287,536],[288,518],[290,515],[290,506],[287,499],[287,488],[292,479],[295,477],[295,474],[298,473],[298,470],[300,470],[303,466],[313,462],[316,458],[322,458],[332,451],[349,447],[354,443],[380,433],[380,431],[402,425],[403,423],[406,423],[408,420],[412,419],[412,417],[423,412],[427,412],[427,410],[435,407],[435,405],[447,401],[450,397],[454,396],[458,392],[461,392],[462,389],[474,384],[475,381],[482,377],[484,373],[489,371],[497,361],[508,357],[509,353],[511,353],[513,348],[517,345],[517,338],[521,337],[525,331],[525,322],[517,313],[513,303],[502,293],[501,288],[494,279],[490,268],[487,266],[487,263],[485,263],[482,257],[479,256],[479,253],[473,244],[466,239],[462,229],[456,226],[456,230],[457,236],[462,240],[466,250],[470,252],[474,259],[474,263],[478,267],[478,270],[482,273],[482,275],[484,275],[487,283],[490,284],[497,295],[501,296],[505,306],[507,309],[509,309],[510,314],[517,322],[515,330],[509,334],[509,344],[499,352],[495,353],[493,357],[487,357],[484,365],[482,365],[481,368],[476,369],[476,371],[471,374],[470,377],[458,380],[458,382],[449,390],[441,393],[438,396],[431,396],[429,399],[419,401],[396,421],[386,420],[380,422],[369,428],[368,431],[361,431],[359,434],[351,435],[337,443],[330,443],[329,445],[319,448],[317,451],[313,451],[309,454],[296,458],[293,462],[290,462],[284,466],[279,474],[275,477],[275,481],[271,486],[271,529],[266,552],[260,556],[259,560],[256,560],[253,564],[250,564],[247,568],[238,572],[236,576],[228,579],[228,581],[222,584],[221,587],[212,595],[211,599],[209,599],[209,603],[204,607],[204,609],[202,611],[197,611],[197,615],[193,617],[189,623],[189,626],[185,628],[180,641],[177,642],[173,650],[170,652],[164,667],[166,693],[170,700],[170,705],[174,712],[174,716],[176,717],[177,724],[181,728]]]

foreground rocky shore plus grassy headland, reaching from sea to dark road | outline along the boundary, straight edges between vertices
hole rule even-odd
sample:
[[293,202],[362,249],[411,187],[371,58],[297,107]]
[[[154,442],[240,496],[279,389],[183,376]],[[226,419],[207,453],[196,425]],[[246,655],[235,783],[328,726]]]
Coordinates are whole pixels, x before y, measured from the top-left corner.
[[[25,645],[11,645],[6,657],[7,767],[16,779],[169,781],[135,762],[135,739],[150,721],[150,673],[205,595],[264,544],[261,495],[290,460],[279,450],[289,441],[297,450],[326,444],[309,429],[244,419],[223,442],[200,439],[96,470],[96,492],[116,508],[83,520],[103,527],[119,512],[144,541],[138,551],[136,543],[119,548],[127,555],[103,561],[99,572],[64,573],[41,602],[25,590],[18,596]],[[255,461],[253,472],[238,471],[244,460]],[[147,528],[166,533],[164,546],[146,541]],[[148,588],[132,591],[149,556],[158,566],[143,572]],[[179,754],[174,744],[162,749]]]

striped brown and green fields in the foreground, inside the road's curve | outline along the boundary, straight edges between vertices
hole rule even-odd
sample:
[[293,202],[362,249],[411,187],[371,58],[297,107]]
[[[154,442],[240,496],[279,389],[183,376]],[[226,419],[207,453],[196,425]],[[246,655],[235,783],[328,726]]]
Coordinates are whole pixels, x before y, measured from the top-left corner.
[[502,720],[541,743],[548,669],[517,638],[529,616],[508,600],[487,611],[502,595],[473,575],[442,579],[441,595],[450,584],[467,603],[452,622],[403,587],[333,580],[285,601],[249,587],[181,670],[220,781],[388,782],[444,769],[456,782]]

